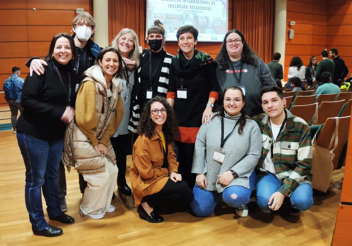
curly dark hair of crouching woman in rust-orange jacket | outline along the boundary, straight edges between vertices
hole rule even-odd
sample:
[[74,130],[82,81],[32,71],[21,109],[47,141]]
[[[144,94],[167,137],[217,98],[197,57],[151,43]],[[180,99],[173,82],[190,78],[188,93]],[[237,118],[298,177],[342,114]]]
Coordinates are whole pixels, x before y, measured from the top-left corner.
[[166,121],[163,124],[163,133],[167,144],[172,143],[179,135],[178,126],[176,122],[176,115],[172,110],[170,104],[166,102],[166,99],[160,96],[155,96],[144,105],[143,112],[140,115],[140,121],[138,123],[138,134],[144,134],[149,139],[155,134],[155,124],[150,118],[150,107],[153,103],[159,102],[164,105],[166,109]]

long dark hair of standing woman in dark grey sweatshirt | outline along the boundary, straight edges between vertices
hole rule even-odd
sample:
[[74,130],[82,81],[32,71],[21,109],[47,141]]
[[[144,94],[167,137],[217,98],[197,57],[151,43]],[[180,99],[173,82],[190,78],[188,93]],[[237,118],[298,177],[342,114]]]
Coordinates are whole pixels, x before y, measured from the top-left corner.
[[222,69],[221,70],[227,70],[229,68],[229,64],[228,64],[228,53],[226,50],[226,38],[228,35],[230,35],[230,33],[237,33],[241,39],[242,39],[242,43],[243,43],[243,48],[242,48],[242,55],[241,55],[241,60],[243,63],[245,64],[249,64],[249,65],[253,65],[253,66],[257,66],[256,64],[256,60],[257,60],[257,55],[254,51],[251,50],[251,48],[249,47],[249,45],[246,42],[246,39],[244,38],[244,35],[241,31],[233,29],[228,31],[225,34],[224,37],[224,41],[222,42],[220,51],[218,53],[218,55],[216,56],[215,60],[221,64]]

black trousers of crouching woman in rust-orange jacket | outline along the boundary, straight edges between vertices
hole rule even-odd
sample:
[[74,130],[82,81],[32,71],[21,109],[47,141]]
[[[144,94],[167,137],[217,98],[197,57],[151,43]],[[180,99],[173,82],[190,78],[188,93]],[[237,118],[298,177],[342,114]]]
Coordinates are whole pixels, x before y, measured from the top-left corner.
[[174,182],[168,179],[165,186],[157,193],[144,196],[142,202],[147,202],[150,207],[165,206],[170,203],[188,205],[193,199],[193,193],[185,181]]

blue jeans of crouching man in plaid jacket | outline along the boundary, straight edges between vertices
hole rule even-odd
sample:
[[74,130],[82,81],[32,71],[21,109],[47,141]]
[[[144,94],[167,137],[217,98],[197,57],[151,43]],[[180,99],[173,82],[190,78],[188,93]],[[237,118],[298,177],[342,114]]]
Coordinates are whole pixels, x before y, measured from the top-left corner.
[[[261,177],[256,182],[256,202],[258,207],[270,211],[268,202],[270,196],[278,191],[282,186],[281,182],[277,177],[268,173],[264,177]],[[312,185],[309,183],[301,183],[295,189],[295,191],[290,195],[290,202],[293,208],[296,208],[300,211],[306,211],[313,206],[313,189]]]

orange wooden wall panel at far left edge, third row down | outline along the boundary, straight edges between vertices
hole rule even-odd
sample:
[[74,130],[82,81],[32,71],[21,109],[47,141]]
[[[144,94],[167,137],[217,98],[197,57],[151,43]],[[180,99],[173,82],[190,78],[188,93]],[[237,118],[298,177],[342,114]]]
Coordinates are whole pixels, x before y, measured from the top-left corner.
[[27,26],[0,26],[0,42],[28,41]]

